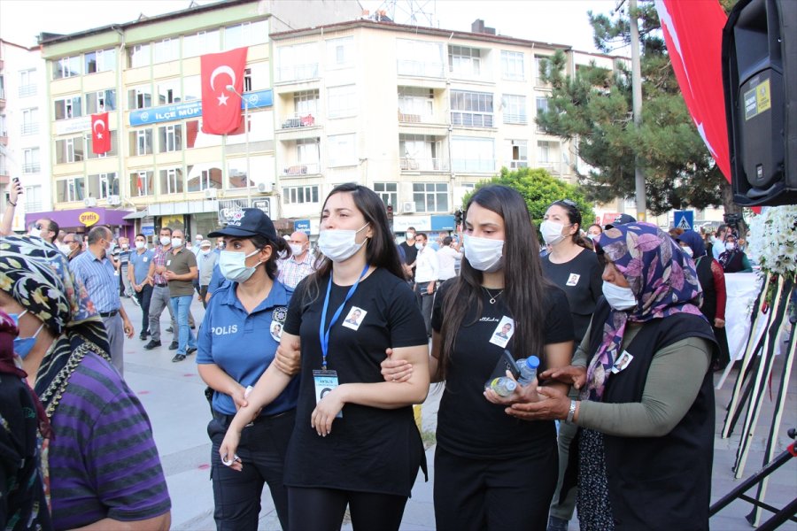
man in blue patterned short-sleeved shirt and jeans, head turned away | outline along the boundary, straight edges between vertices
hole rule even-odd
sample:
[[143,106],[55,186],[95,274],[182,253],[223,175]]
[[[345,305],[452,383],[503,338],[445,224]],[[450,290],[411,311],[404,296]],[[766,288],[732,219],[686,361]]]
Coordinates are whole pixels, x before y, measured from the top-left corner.
[[89,231],[89,250],[69,262],[69,269],[83,282],[97,313],[103,318],[108,342],[111,343],[111,360],[120,374],[124,373],[123,348],[125,338],[133,337],[133,323],[121,305],[119,272],[113,267],[108,254],[113,235],[108,227],[94,227]]

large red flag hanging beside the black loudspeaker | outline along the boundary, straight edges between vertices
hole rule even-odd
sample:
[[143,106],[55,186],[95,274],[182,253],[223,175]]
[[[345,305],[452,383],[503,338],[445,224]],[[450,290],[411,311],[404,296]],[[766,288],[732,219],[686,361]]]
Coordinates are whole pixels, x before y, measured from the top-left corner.
[[656,0],[655,5],[686,107],[716,165],[731,181],[722,62],[728,17],[717,0]]

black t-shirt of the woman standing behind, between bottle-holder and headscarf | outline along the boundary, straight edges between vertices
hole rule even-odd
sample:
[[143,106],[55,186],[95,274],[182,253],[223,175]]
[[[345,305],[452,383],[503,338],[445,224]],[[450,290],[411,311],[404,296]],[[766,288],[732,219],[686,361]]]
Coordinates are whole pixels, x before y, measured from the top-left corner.
[[592,250],[584,249],[576,258],[564,264],[553,264],[550,255],[542,258],[542,264],[548,280],[563,289],[568,296],[577,345],[590,326],[595,304],[603,295],[598,256]]

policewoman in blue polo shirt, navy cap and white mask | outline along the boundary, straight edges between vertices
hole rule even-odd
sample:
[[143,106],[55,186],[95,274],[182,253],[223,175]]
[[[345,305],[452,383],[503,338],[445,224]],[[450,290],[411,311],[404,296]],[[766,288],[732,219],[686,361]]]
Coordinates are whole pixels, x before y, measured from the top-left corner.
[[288,529],[282,471],[296,417],[298,378],[288,378],[279,396],[244,427],[236,450],[247,465],[243,473],[230,470],[219,456],[230,420],[246,404],[246,389],[266,372],[280,342],[290,291],[275,280],[276,258],[287,245],[256,208],[244,209],[240,219],[208,236],[224,237],[219,267],[229,281],[208,303],[198,338],[199,375],[213,389],[213,420],[207,428],[213,442],[213,518],[220,530],[257,529],[265,482],[280,524]]

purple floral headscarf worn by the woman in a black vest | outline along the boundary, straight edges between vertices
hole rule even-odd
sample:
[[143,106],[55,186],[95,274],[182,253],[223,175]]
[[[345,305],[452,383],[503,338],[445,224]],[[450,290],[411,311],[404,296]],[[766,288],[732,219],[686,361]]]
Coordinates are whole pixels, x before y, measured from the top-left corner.
[[582,398],[594,401],[603,396],[628,321],[644,323],[681,312],[703,318],[699,309],[703,292],[693,261],[659,227],[630,223],[610,228],[598,238],[598,252],[623,274],[637,305],[626,311],[612,309],[603,323],[603,338],[587,368],[582,393]]

